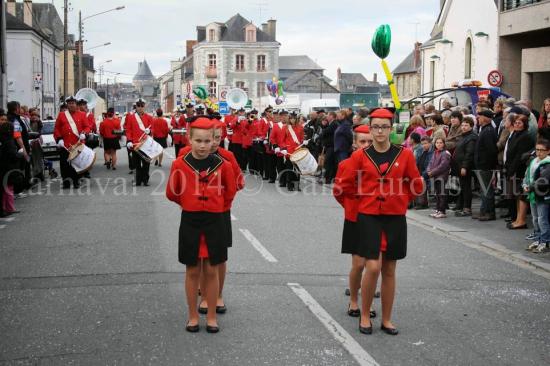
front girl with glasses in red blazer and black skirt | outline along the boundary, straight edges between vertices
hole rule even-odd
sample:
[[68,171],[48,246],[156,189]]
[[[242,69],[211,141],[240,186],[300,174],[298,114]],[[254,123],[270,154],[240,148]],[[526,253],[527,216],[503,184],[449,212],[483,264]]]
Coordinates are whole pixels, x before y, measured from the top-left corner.
[[367,316],[376,282],[382,273],[382,324],[387,334],[397,335],[391,322],[395,297],[397,260],[407,253],[407,206],[424,188],[412,152],[390,143],[393,113],[376,109],[370,114],[373,144],[355,151],[349,169],[341,173],[341,194],[357,197],[356,254],[366,259],[361,283],[359,331],[372,334]]

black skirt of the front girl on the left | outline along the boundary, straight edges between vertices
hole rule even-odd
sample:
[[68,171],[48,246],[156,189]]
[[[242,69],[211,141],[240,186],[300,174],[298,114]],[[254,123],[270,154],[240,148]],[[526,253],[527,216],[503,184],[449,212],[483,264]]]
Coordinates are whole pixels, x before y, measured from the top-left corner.
[[208,247],[208,260],[216,265],[227,261],[225,213],[181,212],[178,260],[195,266],[199,258],[200,235],[204,234]]

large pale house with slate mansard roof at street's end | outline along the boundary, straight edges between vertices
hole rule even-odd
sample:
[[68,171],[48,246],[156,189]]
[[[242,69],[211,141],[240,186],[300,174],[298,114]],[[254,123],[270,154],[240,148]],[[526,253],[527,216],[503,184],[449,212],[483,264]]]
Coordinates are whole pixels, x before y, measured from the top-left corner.
[[225,23],[197,27],[194,85],[204,85],[214,96],[220,86],[241,88],[258,105],[260,97],[267,94],[266,80],[278,76],[280,43],[275,37],[275,20],[259,29],[240,14]]

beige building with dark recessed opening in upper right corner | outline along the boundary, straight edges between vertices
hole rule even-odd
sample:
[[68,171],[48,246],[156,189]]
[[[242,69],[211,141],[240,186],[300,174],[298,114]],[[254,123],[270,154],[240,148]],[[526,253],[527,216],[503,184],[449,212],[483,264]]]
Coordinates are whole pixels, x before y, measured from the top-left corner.
[[550,97],[550,1],[499,2],[501,87],[538,109]]

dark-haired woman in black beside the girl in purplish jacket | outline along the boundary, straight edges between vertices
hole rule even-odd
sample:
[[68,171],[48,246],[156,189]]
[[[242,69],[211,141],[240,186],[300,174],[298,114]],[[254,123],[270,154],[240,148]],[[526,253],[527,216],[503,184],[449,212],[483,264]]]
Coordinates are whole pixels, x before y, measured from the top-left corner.
[[456,203],[455,216],[472,216],[472,177],[474,170],[474,152],[477,144],[477,134],[473,131],[474,119],[466,116],[460,126],[462,130],[462,139],[456,145],[453,153],[453,162],[455,164],[459,181],[460,193]]

